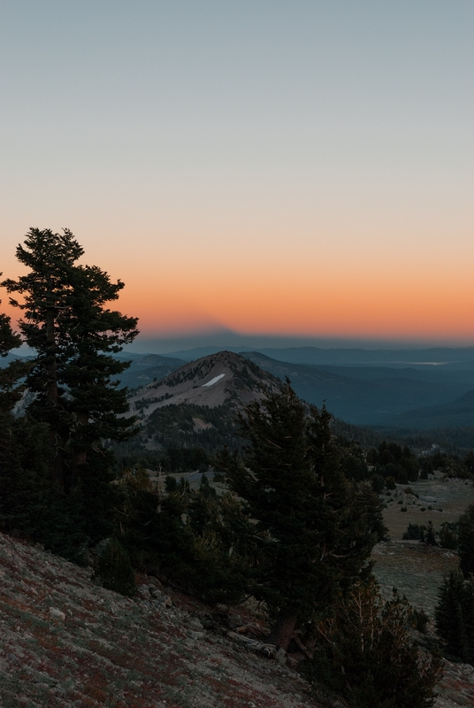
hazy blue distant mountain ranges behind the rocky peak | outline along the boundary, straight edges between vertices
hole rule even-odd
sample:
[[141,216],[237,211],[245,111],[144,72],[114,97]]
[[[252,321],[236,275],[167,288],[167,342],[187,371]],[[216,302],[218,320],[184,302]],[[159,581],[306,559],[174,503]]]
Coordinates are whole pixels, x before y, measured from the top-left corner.
[[[288,347],[240,351],[240,355],[227,351],[226,356],[235,355],[235,361],[246,358],[265,372],[256,378],[269,374],[279,379],[288,377],[298,396],[318,406],[325,401],[328,410],[348,423],[420,430],[474,427],[474,405],[470,404],[470,392],[474,390],[474,347],[424,350]],[[119,386],[146,389],[137,391],[131,400],[135,405],[142,399],[141,412],[153,412],[160,405],[149,404],[147,408],[148,399],[164,396],[165,392],[176,396],[178,389],[165,391],[164,385],[160,394],[147,393],[150,385],[155,386],[183,367],[187,371],[190,363],[195,366],[196,359],[203,361],[218,354],[217,347],[182,350],[172,356],[122,351],[117,356],[131,361],[131,366],[118,377]],[[0,359],[0,366],[6,366],[13,358],[18,357]],[[198,383],[193,385],[201,388]],[[161,391],[162,385],[158,388]],[[205,396],[203,390],[199,394],[192,390],[192,395],[180,402],[212,407],[209,401],[220,387],[210,387]]]

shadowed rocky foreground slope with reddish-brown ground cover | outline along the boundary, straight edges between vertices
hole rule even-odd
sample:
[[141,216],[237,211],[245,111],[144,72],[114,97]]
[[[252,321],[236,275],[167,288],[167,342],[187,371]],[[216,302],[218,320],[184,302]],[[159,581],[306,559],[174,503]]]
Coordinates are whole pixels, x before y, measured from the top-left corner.
[[131,600],[89,577],[0,535],[2,708],[320,705],[276,660],[205,631],[203,605],[178,595],[172,602],[158,589],[158,599],[143,589]]

